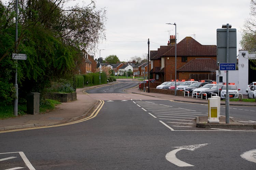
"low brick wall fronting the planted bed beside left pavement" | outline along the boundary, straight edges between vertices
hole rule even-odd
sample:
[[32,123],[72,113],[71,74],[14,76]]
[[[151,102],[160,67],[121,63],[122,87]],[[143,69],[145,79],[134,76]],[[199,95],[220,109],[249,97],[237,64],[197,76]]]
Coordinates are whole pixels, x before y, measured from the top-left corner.
[[76,92],[73,93],[45,93],[46,99],[57,100],[59,102],[68,102],[76,100]]

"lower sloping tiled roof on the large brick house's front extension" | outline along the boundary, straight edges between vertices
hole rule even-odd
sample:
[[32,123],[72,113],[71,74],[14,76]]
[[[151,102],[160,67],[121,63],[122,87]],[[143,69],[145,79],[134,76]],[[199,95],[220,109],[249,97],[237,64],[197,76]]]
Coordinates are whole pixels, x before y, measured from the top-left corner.
[[196,58],[177,71],[215,71],[218,70],[217,62],[212,58]]

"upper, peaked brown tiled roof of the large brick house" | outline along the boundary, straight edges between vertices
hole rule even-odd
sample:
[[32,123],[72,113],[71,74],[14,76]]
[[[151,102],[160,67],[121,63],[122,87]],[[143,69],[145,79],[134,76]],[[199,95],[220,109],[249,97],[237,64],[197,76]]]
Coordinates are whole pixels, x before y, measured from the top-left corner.
[[[185,37],[177,44],[177,56],[216,56],[216,45],[201,45],[192,37]],[[175,56],[175,47],[163,56]]]

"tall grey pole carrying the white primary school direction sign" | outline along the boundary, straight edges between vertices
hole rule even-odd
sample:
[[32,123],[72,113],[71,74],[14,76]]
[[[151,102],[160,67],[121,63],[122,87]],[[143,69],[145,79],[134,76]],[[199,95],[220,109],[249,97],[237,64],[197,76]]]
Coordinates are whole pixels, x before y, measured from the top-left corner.
[[[15,30],[15,52],[17,54],[18,52],[18,0],[16,0],[16,30]],[[17,84],[17,67],[18,67],[18,60],[15,60],[15,64],[16,64],[16,69],[15,69],[15,84],[14,84],[14,88],[16,91],[16,97],[14,99],[14,109],[13,109],[13,113],[14,116],[18,116],[18,84]]]

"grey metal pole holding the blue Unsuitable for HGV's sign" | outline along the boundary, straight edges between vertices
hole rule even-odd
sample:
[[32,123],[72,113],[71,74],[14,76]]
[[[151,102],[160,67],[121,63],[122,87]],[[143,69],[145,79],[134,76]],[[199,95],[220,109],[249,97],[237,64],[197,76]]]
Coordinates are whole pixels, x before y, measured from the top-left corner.
[[[227,23],[227,48],[226,48],[226,62],[229,63],[229,24]],[[229,92],[228,92],[228,70],[226,72],[226,123],[229,123]]]

